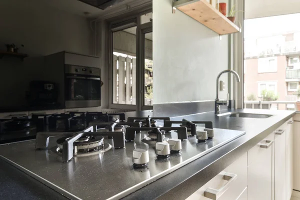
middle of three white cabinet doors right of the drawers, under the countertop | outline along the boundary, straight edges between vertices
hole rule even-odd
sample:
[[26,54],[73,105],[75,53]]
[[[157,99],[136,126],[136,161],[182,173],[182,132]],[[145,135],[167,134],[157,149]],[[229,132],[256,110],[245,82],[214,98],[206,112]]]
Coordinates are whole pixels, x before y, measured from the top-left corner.
[[[286,198],[286,132],[285,129],[275,130],[274,141],[274,195],[275,200]],[[286,128],[286,127],[285,127]]]

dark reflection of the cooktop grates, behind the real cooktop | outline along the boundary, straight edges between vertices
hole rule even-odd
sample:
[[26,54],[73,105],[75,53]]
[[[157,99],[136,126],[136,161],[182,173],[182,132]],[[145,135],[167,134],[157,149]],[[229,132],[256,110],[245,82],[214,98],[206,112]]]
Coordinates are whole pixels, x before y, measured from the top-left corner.
[[[75,132],[88,127],[91,122],[98,128],[107,123],[124,120],[124,113],[70,112],[52,114],[32,114],[29,116],[0,119],[0,144],[34,139],[37,132]],[[125,122],[123,122],[125,124]]]

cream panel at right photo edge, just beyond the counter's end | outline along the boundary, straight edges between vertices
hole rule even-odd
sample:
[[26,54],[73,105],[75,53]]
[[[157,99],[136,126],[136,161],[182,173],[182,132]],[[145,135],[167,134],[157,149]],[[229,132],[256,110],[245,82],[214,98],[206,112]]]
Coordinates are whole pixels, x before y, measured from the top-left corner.
[[[295,117],[294,117],[295,120]],[[293,122],[293,189],[300,190],[300,118]]]

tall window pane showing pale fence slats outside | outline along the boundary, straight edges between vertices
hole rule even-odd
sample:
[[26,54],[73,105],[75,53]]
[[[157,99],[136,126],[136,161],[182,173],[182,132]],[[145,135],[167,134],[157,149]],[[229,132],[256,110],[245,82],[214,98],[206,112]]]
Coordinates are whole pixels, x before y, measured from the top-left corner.
[[112,33],[112,103],[135,105],[136,26]]

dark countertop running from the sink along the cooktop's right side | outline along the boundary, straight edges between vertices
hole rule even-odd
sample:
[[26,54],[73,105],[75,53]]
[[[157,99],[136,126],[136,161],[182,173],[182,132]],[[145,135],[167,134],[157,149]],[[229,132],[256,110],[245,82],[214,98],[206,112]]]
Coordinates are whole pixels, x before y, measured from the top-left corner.
[[[213,127],[244,130],[246,134],[131,193],[125,199],[185,199],[295,114],[291,110],[232,109],[272,115],[268,118],[217,116],[214,111],[172,117],[171,120],[210,120]],[[227,110],[221,110],[221,113]]]

